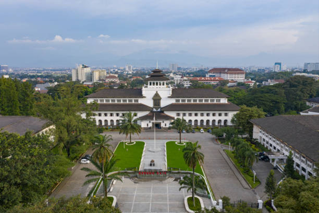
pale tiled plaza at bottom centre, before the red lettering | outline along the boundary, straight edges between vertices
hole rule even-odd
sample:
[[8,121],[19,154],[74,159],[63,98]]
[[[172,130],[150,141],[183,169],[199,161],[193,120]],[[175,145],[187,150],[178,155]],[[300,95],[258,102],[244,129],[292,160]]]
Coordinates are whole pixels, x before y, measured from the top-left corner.
[[[123,213],[185,213],[184,198],[191,193],[179,191],[177,181],[170,183],[134,183],[125,178],[116,181],[113,191]],[[211,206],[208,198],[202,198],[206,208]]]

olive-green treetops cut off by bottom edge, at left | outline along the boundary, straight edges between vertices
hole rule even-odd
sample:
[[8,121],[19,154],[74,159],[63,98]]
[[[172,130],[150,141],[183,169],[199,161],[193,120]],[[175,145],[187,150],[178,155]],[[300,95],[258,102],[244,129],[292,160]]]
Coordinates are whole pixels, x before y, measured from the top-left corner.
[[35,205],[17,205],[7,213],[121,213],[119,208],[112,207],[105,198],[81,198],[80,195],[71,198],[48,199]]

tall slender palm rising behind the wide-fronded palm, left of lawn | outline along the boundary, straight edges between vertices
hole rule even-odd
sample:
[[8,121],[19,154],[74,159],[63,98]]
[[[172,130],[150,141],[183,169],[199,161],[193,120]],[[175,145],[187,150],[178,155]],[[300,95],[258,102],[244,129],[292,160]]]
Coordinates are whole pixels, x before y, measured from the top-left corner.
[[[102,175],[105,176],[104,172],[104,163],[106,160],[108,160],[113,152],[110,150],[111,144],[109,144],[109,141],[113,140],[111,135],[105,136],[105,135],[97,135],[94,137],[94,145],[92,146],[94,153],[93,153],[93,159],[101,164],[102,167]],[[104,194],[105,196],[105,194]]]

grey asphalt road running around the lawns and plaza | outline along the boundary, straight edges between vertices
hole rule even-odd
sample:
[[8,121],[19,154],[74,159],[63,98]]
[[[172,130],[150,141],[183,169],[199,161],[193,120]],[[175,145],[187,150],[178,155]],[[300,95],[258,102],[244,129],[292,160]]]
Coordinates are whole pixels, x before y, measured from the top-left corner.
[[[112,135],[113,141],[111,144],[113,145],[113,149],[115,149],[119,141],[125,139],[125,136],[119,135],[119,132],[106,132],[104,134]],[[134,140],[149,140],[153,138],[154,133],[149,131],[142,132],[139,136],[132,136],[132,139]],[[259,180],[261,180],[262,184],[255,190],[244,189],[240,184],[238,177],[235,175],[235,172],[237,171],[233,171],[226,163],[224,157],[221,155],[219,151],[221,146],[216,144],[215,137],[213,135],[198,132],[183,133],[182,138],[186,138],[186,140],[192,142],[199,141],[199,144],[201,145],[201,152],[205,155],[203,165],[205,174],[216,199],[227,196],[231,199],[231,201],[242,200],[247,202],[257,202],[260,197],[263,198],[263,200],[266,200],[264,185],[270,170],[273,168],[270,163],[255,163],[253,168],[257,172],[257,177]],[[179,134],[174,131],[158,131],[157,139],[179,140]],[[88,154],[91,153],[92,150],[89,150]],[[87,174],[86,172],[80,170],[82,167],[92,168],[92,164],[77,164],[73,169],[73,174],[64,180],[51,196],[58,198],[61,196],[70,197],[81,194],[82,197],[85,197],[90,191],[90,186],[82,186],[86,180],[85,175]],[[281,174],[278,171],[275,171],[275,177],[277,181],[280,181]]]

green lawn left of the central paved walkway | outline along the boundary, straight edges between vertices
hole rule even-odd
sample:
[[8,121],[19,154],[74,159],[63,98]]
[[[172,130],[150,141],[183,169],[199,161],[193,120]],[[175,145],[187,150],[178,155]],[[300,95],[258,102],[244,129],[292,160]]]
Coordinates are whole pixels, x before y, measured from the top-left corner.
[[118,170],[125,170],[126,168],[132,167],[137,167],[139,169],[143,149],[143,141],[136,141],[136,144],[130,146],[125,145],[125,149],[123,148],[123,142],[120,142],[114,152],[114,156],[116,156],[117,159],[120,159],[116,164]]

